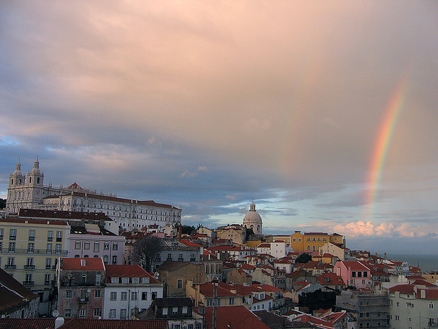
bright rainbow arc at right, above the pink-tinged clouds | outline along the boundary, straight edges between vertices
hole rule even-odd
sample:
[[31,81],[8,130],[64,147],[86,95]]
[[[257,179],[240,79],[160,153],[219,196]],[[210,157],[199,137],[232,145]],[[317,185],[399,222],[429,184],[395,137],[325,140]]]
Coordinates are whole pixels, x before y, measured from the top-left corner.
[[369,209],[369,216],[372,215],[372,206],[376,202],[376,197],[381,184],[381,178],[383,175],[383,168],[385,167],[385,161],[388,154],[389,145],[391,144],[391,139],[394,134],[394,129],[396,127],[400,111],[403,107],[404,98],[407,89],[407,75],[402,79],[400,84],[398,84],[394,94],[392,95],[381,125],[376,136],[376,141],[374,143],[374,149],[372,152],[372,157],[370,161],[370,169],[368,171],[367,180],[367,195],[365,198],[365,205]]

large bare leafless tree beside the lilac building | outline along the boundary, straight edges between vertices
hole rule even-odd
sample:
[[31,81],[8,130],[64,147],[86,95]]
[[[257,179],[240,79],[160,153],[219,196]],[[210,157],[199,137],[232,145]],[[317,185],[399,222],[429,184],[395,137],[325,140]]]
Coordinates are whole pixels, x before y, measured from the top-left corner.
[[151,271],[152,260],[163,249],[162,239],[152,235],[144,236],[143,239],[134,243],[131,249],[131,259],[133,263],[140,265],[146,271]]

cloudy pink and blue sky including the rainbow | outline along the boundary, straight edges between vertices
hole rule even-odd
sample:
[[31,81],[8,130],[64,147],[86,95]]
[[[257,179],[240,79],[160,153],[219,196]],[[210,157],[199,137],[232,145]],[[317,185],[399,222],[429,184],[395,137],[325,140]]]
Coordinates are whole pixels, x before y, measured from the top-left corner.
[[2,1],[0,196],[44,183],[183,223],[438,249],[436,1]]

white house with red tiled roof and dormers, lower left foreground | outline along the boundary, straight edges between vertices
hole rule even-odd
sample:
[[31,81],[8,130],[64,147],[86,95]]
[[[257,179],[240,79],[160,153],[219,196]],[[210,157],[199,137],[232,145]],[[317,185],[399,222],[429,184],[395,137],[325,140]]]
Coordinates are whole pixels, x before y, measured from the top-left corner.
[[163,297],[163,284],[138,265],[106,265],[103,319],[131,319]]

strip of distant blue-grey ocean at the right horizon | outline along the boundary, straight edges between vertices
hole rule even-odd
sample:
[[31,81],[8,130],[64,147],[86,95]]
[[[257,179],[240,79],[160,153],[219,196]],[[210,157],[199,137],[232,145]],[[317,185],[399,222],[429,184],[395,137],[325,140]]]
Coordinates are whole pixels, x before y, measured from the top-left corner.
[[[383,257],[385,252],[372,251],[372,254]],[[411,266],[418,266],[423,272],[438,271],[438,253],[433,252],[386,252],[387,259],[407,262]]]

